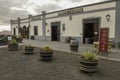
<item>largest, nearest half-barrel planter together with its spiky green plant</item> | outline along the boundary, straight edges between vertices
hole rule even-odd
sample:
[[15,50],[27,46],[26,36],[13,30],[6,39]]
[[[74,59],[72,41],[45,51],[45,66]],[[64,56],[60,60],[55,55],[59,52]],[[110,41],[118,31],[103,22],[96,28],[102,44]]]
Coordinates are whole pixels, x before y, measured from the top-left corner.
[[98,57],[93,52],[85,52],[80,56],[80,69],[85,72],[96,72]]

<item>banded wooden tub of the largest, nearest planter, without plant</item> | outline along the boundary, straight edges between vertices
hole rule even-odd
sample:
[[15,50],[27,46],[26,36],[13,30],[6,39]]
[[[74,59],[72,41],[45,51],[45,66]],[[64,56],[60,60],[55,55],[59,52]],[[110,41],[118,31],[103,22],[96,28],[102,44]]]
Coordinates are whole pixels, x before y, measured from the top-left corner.
[[83,57],[80,57],[80,69],[85,72],[96,72],[98,60],[86,60]]

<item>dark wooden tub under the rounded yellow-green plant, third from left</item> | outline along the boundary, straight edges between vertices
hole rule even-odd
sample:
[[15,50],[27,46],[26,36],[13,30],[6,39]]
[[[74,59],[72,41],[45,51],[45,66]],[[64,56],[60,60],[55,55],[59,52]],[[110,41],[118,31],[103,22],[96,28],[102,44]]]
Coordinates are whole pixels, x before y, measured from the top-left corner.
[[53,50],[44,51],[43,49],[40,49],[40,57],[41,59],[52,59],[53,56]]

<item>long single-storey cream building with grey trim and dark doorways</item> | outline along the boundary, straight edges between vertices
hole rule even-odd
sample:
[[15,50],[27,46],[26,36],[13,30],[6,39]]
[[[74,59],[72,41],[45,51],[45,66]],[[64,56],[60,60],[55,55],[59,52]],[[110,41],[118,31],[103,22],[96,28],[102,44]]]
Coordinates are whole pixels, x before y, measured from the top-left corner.
[[86,43],[99,40],[99,30],[109,28],[109,40],[120,40],[120,0],[90,5],[11,20],[13,35],[34,37],[36,40],[65,42],[67,37]]

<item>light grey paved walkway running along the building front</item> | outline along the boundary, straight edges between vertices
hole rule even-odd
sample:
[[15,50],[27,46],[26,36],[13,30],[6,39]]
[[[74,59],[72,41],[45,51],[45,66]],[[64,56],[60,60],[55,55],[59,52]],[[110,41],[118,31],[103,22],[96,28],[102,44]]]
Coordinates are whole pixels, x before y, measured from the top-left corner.
[[[68,53],[74,53],[74,54],[82,54],[85,51],[96,51],[93,44],[80,44],[79,43],[78,52],[72,52],[70,50],[70,44],[64,43],[64,42],[54,42],[54,41],[52,42],[52,41],[39,41],[39,40],[24,39],[23,43],[21,45],[24,45],[24,44],[31,44],[31,45],[37,46],[37,47],[49,45],[54,50],[68,52]],[[100,57],[107,58],[109,60],[120,61],[120,49],[111,48],[111,49],[109,49],[108,56],[100,55]]]

